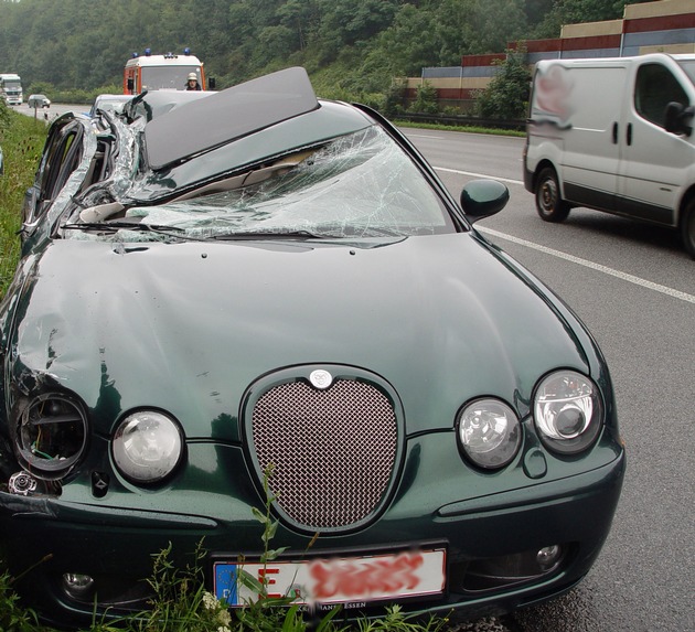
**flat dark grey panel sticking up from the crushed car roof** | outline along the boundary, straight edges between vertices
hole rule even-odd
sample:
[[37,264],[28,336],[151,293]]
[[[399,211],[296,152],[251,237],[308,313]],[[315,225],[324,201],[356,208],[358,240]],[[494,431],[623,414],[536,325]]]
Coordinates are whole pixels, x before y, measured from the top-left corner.
[[151,120],[145,128],[148,163],[162,169],[318,107],[304,68],[252,79]]

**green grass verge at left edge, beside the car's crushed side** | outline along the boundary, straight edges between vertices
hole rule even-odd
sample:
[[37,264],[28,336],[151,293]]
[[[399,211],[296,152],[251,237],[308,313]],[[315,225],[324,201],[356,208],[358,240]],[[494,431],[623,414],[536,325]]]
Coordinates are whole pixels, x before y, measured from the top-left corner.
[[11,111],[0,99],[0,147],[4,175],[0,175],[0,298],[14,275],[24,192],[34,179],[46,138],[43,120]]

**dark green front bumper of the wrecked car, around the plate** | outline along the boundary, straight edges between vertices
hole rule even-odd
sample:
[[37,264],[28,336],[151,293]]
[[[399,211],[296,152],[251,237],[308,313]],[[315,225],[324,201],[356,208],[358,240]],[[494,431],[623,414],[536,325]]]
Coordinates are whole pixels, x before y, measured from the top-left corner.
[[[405,602],[404,610],[448,615],[453,609],[469,619],[555,597],[587,574],[608,535],[620,495],[626,465],[621,449],[605,438],[596,447],[602,452],[599,467],[586,471],[584,463],[585,471],[547,482],[526,476],[531,484],[525,486],[475,495],[452,489],[451,481],[437,471],[437,461],[451,469],[442,443],[437,436],[411,441],[402,483],[381,518],[355,533],[319,537],[310,555],[388,553],[425,542],[442,543],[445,593]],[[151,576],[152,555],[169,544],[172,561],[183,568],[194,561],[192,553],[203,543],[211,554],[205,568],[209,590],[215,557],[257,558],[263,551],[261,527],[250,507],[263,506],[263,501],[250,480],[239,474],[229,482],[226,497],[205,497],[204,482],[193,489],[193,479],[202,474],[196,465],[210,462],[211,448],[190,450],[188,469],[193,473],[185,484],[163,495],[124,493],[87,502],[78,485],[76,491],[66,485],[61,497],[0,492],[0,559],[12,575],[21,576],[17,590],[25,604],[49,623],[86,625],[95,614],[95,596],[98,617],[145,609],[150,594],[143,579]],[[238,451],[240,458],[240,448],[214,449]],[[218,454],[222,460],[229,461]],[[524,467],[517,463],[520,472]],[[469,482],[468,491],[484,492],[492,480],[480,474]],[[473,497],[457,500],[466,495]],[[287,546],[288,555],[306,556],[310,539],[280,526],[272,547]],[[563,551],[558,563],[534,571],[537,551],[554,545]],[[81,593],[65,582],[66,575],[89,576],[94,583]],[[378,615],[384,604],[351,606],[345,610],[350,615]]]

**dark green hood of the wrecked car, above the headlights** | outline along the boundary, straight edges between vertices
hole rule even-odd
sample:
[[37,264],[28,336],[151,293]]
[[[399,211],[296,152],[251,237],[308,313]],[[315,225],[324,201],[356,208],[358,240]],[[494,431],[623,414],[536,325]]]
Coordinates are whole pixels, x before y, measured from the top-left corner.
[[249,385],[287,367],[379,375],[408,433],[483,395],[525,415],[541,375],[589,371],[548,296],[475,233],[363,246],[54,242],[17,306],[14,379],[73,390],[99,432],[154,407],[189,439],[236,441]]

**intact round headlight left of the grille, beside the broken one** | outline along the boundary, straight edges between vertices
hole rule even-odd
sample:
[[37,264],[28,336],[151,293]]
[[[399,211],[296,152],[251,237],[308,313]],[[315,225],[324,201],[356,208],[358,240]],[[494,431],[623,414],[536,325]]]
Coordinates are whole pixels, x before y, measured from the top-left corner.
[[181,461],[181,429],[162,413],[132,413],[116,428],[113,454],[118,470],[131,482],[157,483]]

